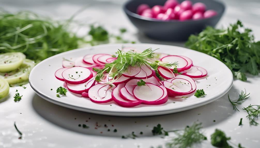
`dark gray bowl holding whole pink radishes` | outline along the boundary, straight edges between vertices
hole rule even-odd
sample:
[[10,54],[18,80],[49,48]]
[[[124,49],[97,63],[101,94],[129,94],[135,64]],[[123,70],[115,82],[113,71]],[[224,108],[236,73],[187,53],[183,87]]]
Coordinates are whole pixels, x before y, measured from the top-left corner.
[[[184,0],[178,0],[181,3]],[[192,3],[202,2],[207,6],[207,10],[213,9],[218,12],[218,15],[201,19],[187,21],[161,21],[154,18],[142,17],[136,14],[136,8],[140,4],[148,4],[150,7],[154,5],[164,5],[166,0],[130,0],[126,2],[123,9],[132,23],[145,33],[148,37],[164,40],[164,41],[184,41],[191,34],[201,32],[206,26],[215,26],[225,11],[225,5],[214,0],[190,0]]]

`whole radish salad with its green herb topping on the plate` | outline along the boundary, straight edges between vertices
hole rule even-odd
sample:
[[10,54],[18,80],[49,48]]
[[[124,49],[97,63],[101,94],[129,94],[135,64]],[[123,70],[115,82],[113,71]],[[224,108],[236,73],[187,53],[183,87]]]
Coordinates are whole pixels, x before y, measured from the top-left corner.
[[159,105],[168,97],[186,98],[197,89],[194,80],[205,78],[207,71],[194,66],[186,56],[139,52],[123,48],[117,56],[87,54],[63,59],[55,77],[64,81],[70,92],[95,103],[115,101],[123,107],[140,104]]

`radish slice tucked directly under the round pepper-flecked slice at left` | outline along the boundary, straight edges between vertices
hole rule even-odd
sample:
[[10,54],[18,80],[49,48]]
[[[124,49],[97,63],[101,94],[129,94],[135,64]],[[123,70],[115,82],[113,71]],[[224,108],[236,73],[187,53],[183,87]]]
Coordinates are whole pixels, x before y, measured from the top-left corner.
[[70,92],[82,94],[83,92],[87,92],[90,87],[95,84],[94,77],[89,79],[87,82],[82,84],[69,84],[67,83],[67,88]]

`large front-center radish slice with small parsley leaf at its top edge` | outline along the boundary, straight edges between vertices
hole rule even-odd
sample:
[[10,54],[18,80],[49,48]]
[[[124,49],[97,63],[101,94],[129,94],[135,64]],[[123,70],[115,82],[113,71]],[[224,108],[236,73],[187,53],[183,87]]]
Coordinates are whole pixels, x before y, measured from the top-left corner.
[[164,95],[164,90],[152,83],[145,83],[142,86],[135,86],[133,90],[134,97],[141,101],[156,101]]

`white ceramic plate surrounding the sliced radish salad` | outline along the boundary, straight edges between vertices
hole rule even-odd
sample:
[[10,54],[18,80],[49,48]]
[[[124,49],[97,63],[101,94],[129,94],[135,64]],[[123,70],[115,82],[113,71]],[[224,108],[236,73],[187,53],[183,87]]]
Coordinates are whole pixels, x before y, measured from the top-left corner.
[[[153,49],[160,48],[157,52],[190,57],[194,65],[201,66],[208,72],[207,79],[196,81],[197,89],[204,89],[207,95],[202,98],[194,96],[186,99],[169,98],[162,105],[139,105],[132,108],[118,106],[113,101],[103,104],[94,103],[88,98],[82,98],[81,95],[71,92],[67,92],[67,97],[56,97],[56,89],[63,86],[63,82],[56,79],[54,73],[62,67],[62,58],[68,59],[92,53],[114,54],[122,46],[135,47],[138,50],[145,50],[150,47]],[[230,90],[233,84],[233,75],[229,68],[216,58],[183,47],[157,44],[109,44],[75,49],[47,58],[33,68],[29,76],[29,83],[42,98],[64,107],[104,115],[152,116],[181,112],[219,99]]]

